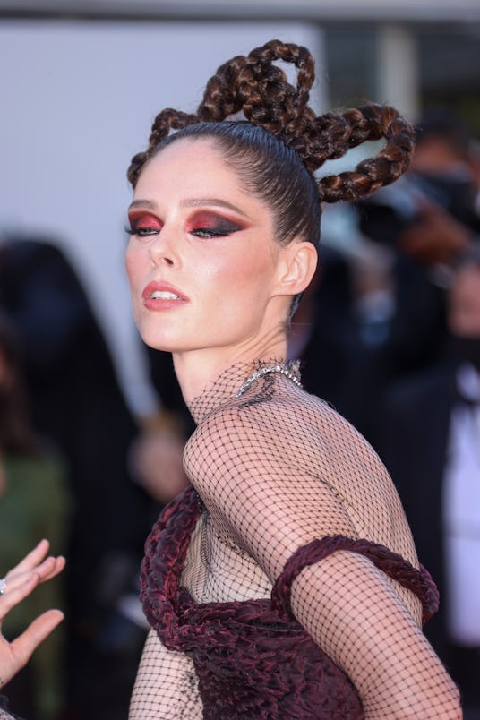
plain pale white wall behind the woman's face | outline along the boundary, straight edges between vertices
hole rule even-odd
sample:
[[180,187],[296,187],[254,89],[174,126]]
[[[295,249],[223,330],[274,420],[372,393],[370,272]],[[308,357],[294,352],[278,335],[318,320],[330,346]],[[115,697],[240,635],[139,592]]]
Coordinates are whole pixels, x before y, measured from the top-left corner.
[[192,110],[220,63],[275,37],[309,47],[321,75],[320,30],[302,23],[0,22],[0,234],[64,246],[136,410],[151,399],[124,277],[126,167],[162,107]]

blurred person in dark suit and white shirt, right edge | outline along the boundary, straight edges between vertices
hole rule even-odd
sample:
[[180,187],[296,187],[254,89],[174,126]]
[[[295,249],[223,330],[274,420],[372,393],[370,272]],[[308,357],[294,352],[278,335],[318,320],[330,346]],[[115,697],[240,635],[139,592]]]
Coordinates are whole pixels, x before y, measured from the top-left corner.
[[376,446],[441,592],[427,637],[480,717],[480,248],[458,259],[438,362],[391,388]]

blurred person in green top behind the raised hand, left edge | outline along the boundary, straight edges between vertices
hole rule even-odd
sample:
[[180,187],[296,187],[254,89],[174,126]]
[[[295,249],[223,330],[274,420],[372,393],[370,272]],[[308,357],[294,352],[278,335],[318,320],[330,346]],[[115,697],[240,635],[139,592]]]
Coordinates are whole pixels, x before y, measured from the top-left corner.
[[[0,567],[13,567],[41,538],[65,554],[70,498],[64,464],[30,423],[13,327],[0,314]],[[61,577],[37,588],[3,623],[13,639],[39,614],[65,607]],[[29,720],[56,720],[65,707],[62,629],[39,647],[11,682],[13,712]]]

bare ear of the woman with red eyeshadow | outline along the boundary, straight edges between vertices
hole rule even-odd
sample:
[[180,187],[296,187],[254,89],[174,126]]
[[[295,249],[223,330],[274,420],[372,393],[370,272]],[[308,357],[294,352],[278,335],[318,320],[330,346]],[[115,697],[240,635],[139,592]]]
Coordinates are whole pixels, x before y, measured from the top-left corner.
[[313,243],[294,240],[282,248],[277,296],[296,296],[310,285],[317,267],[318,253]]

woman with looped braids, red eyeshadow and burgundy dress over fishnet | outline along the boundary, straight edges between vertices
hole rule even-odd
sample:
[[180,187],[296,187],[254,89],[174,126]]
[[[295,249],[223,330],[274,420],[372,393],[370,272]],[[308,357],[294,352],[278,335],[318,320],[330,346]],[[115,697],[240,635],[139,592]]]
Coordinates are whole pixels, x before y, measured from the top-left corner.
[[[296,64],[296,88],[276,60]],[[391,108],[314,116],[312,82],[302,47],[274,40],[237,56],[195,115],[157,116],[129,169],[135,319],[148,345],[172,352],[197,423],[184,452],[193,487],[147,543],[153,630],[132,720],[460,716],[420,630],[436,595],[390,478],[284,363],[321,201],[392,182],[413,149]],[[314,179],[381,137],[355,172]]]

